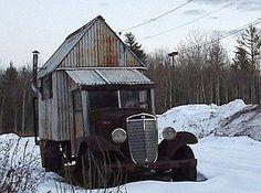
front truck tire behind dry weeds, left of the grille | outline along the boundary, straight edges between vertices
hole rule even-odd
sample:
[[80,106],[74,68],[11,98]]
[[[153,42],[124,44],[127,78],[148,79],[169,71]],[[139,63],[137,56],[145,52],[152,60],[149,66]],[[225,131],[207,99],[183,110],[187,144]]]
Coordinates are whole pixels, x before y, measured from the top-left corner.
[[[126,182],[119,161],[112,158],[116,159],[112,152],[94,152],[86,143],[82,143],[74,171],[75,175],[79,175],[79,183],[87,189],[100,189],[118,186]],[[118,169],[113,170],[111,164],[115,161],[118,163]]]

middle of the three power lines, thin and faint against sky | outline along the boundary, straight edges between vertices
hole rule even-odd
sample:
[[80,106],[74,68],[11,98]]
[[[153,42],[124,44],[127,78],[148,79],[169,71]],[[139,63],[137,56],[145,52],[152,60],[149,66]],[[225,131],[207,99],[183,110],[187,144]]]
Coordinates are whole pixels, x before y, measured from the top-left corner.
[[146,36],[146,37],[144,37],[144,39],[140,39],[139,41],[142,41],[142,40],[148,40],[148,39],[152,39],[152,37],[155,37],[155,36],[158,36],[158,35],[161,35],[161,34],[165,34],[165,33],[168,33],[168,32],[171,32],[171,31],[174,31],[174,30],[180,29],[180,28],[186,26],[186,25],[188,25],[188,24],[191,24],[191,23],[194,23],[194,22],[196,22],[196,21],[198,21],[198,20],[201,20],[201,19],[207,18],[207,17],[209,17],[209,15],[211,15],[211,14],[218,12],[218,11],[221,11],[221,10],[225,9],[225,8],[230,7],[231,4],[233,4],[233,3],[237,2],[237,1],[239,1],[239,0],[234,0],[234,1],[230,2],[230,3],[225,4],[223,7],[217,9],[217,10],[213,10],[213,11],[211,11],[211,12],[209,12],[209,13],[202,15],[202,17],[196,18],[196,19],[194,19],[194,20],[191,20],[191,21],[188,21],[188,22],[186,22],[186,23],[184,23],[184,24],[180,24],[180,25],[175,26],[175,28],[171,28],[171,29],[169,29],[169,30],[166,30],[166,31],[156,33],[156,34],[154,34],[154,35]]

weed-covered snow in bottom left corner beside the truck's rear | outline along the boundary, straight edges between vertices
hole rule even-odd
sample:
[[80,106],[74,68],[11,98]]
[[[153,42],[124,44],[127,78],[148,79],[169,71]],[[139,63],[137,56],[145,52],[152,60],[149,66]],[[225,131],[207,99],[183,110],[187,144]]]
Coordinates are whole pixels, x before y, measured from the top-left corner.
[[33,138],[0,136],[0,192],[35,192],[44,175]]

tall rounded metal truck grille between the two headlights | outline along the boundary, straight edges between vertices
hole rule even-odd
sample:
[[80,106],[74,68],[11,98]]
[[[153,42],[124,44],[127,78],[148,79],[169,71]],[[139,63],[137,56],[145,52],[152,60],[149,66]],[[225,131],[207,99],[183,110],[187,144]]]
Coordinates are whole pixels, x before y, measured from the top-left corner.
[[155,116],[138,114],[128,117],[127,135],[130,156],[135,163],[156,161],[158,131]]

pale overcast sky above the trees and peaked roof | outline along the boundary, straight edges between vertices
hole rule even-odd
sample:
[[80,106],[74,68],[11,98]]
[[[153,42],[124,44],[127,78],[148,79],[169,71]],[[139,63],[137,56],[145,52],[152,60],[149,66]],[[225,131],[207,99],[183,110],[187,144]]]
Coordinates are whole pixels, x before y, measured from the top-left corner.
[[[119,32],[186,2],[187,0],[0,0],[0,66],[6,67],[10,61],[15,66],[31,63],[31,52],[34,50],[41,53],[40,63],[43,64],[71,32],[98,14],[115,32]],[[220,9],[229,2],[233,3]],[[218,9],[220,10],[215,12]],[[209,15],[203,19],[178,28],[207,14]],[[180,41],[186,40],[189,31],[228,32],[259,18],[261,0],[194,0],[130,31],[147,52],[160,47],[173,51]],[[168,30],[170,31],[160,34]],[[228,39],[223,44],[232,53],[236,42]]]

